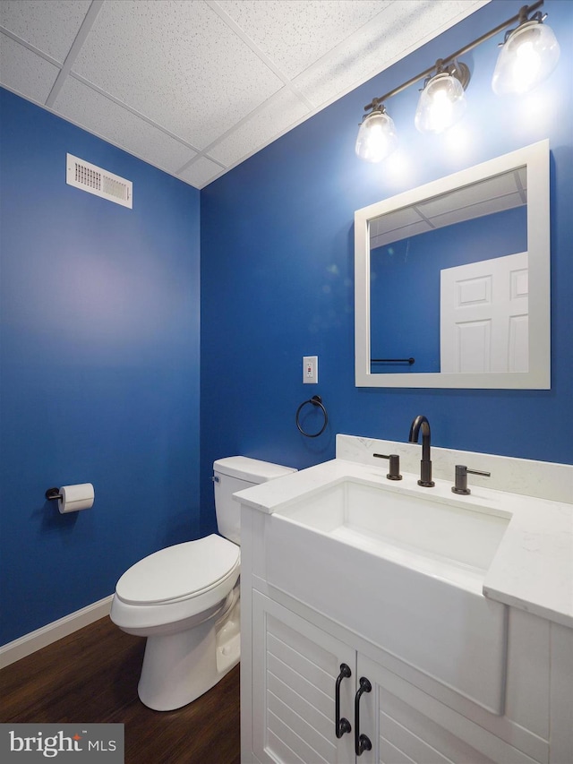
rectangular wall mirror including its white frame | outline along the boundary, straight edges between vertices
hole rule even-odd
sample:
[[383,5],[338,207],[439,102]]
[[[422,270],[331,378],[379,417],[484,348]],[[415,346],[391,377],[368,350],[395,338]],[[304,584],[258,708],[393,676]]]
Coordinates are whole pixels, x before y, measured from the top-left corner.
[[355,212],[357,387],[549,389],[549,142]]

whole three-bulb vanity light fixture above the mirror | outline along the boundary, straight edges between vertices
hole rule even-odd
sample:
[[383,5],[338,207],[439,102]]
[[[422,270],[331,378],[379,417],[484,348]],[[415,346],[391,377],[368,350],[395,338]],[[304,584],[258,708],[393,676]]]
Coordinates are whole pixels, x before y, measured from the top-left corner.
[[417,129],[422,133],[442,133],[457,123],[466,110],[464,91],[470,80],[469,69],[466,64],[458,61],[459,56],[492,39],[516,22],[517,28],[508,30],[501,43],[492,88],[500,95],[523,93],[543,82],[555,68],[560,49],[552,30],[543,24],[546,15],[537,10],[541,5],[543,0],[524,5],[519,13],[495,29],[451,56],[439,59],[432,67],[416,74],[398,88],[389,90],[381,98],[372,99],[364,107],[366,113],[355,144],[357,156],[368,162],[380,162],[398,147],[396,128],[384,104],[392,96],[421,80],[425,82],[415,114]]

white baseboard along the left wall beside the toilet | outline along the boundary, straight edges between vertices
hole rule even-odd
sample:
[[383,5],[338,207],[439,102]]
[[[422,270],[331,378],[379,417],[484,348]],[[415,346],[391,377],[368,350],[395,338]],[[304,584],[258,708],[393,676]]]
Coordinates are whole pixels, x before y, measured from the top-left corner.
[[29,634],[24,634],[18,640],[3,645],[0,648],[0,668],[30,656],[36,650],[45,648],[52,642],[61,640],[68,634],[73,634],[74,631],[109,615],[113,598],[114,596],[111,594],[109,597],[98,600],[98,602],[82,607],[81,610],[76,610],[75,613],[64,615],[64,618],[47,623],[41,629],[30,631]]

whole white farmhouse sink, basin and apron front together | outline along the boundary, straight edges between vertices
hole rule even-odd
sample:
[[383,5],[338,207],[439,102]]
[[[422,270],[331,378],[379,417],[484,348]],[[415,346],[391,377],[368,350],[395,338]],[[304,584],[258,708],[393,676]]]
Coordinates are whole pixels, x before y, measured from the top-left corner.
[[346,477],[275,509],[269,584],[495,714],[505,605],[482,587],[510,515],[432,489]]

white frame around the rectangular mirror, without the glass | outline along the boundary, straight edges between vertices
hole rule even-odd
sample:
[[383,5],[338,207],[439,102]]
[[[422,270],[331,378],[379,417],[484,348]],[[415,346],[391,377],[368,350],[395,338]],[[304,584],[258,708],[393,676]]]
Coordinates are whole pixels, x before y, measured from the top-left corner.
[[[523,373],[372,373],[370,221],[439,194],[449,193],[461,186],[524,166],[527,172],[529,371]],[[356,387],[549,390],[551,388],[549,196],[549,141],[545,140],[357,210],[355,212]]]

